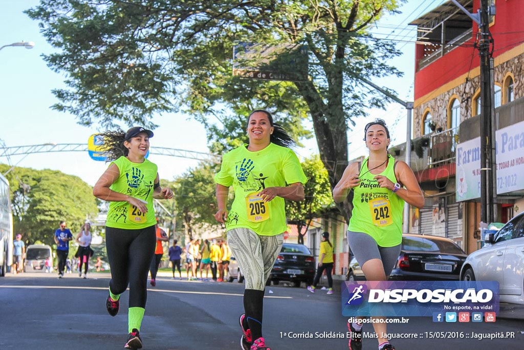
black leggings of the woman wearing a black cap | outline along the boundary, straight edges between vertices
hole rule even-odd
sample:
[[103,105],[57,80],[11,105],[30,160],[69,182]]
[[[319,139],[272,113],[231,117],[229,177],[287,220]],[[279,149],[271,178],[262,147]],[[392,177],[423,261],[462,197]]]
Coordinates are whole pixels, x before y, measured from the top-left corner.
[[113,294],[122,294],[129,285],[129,307],[146,307],[147,274],[156,244],[155,226],[139,230],[105,228],[111,267],[109,288]]

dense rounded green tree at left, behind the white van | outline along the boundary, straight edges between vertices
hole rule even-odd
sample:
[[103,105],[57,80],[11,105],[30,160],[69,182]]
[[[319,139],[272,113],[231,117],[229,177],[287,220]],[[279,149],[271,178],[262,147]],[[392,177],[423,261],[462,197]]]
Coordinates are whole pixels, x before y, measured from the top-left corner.
[[[10,166],[0,164],[5,173]],[[15,167],[6,175],[11,189],[14,231],[30,242],[54,245],[54,231],[61,220],[77,232],[86,217],[98,214],[91,186],[78,176],[49,169]]]

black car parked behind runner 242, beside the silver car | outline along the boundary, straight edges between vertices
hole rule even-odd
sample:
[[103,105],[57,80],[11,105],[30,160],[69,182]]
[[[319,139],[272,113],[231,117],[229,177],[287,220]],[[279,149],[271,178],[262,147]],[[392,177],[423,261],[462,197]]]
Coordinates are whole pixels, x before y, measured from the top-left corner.
[[[467,254],[451,239],[428,235],[402,235],[402,246],[390,281],[458,281]],[[355,258],[346,281],[365,280]]]

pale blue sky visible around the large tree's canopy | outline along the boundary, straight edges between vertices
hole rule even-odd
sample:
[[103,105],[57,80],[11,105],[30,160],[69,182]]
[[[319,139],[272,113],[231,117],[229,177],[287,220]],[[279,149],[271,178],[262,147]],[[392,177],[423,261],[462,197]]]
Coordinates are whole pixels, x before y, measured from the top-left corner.
[[[414,40],[416,31],[407,24],[444,0],[409,0],[402,6],[400,15],[381,20],[373,29],[381,38],[399,41],[403,55],[391,63],[405,72],[402,78],[381,79],[374,82],[397,91],[403,100],[413,99]],[[0,147],[35,145],[43,143],[86,143],[88,137],[100,131],[97,126],[86,128],[78,125],[73,115],[57,112],[50,108],[57,103],[52,89],[61,88],[63,76],[46,66],[42,54],[50,54],[53,48],[39,33],[38,23],[31,20],[23,10],[37,5],[37,0],[0,0],[0,46],[17,41],[34,41],[35,47],[5,47],[0,51]],[[404,40],[407,41],[404,43]],[[406,141],[406,110],[399,104],[389,105],[387,111],[370,110],[370,117],[357,121],[354,132],[348,136],[350,158],[365,154],[362,140],[364,125],[371,118],[383,118],[390,125],[392,144]],[[151,139],[151,147],[161,146],[174,149],[207,152],[203,126],[191,120],[190,116],[165,114],[154,120],[159,127]],[[392,128],[391,128],[392,127]],[[128,125],[122,125],[127,129]],[[398,132],[397,132],[398,131]],[[0,152],[1,153],[1,152]],[[318,153],[314,140],[299,149],[299,156],[307,157]],[[150,155],[149,159],[158,164],[162,178],[172,179],[197,162],[179,157]],[[40,153],[27,156],[0,158],[0,163],[33,167],[36,169],[57,169],[77,175],[90,185],[104,172],[103,162],[91,160],[87,152]]]

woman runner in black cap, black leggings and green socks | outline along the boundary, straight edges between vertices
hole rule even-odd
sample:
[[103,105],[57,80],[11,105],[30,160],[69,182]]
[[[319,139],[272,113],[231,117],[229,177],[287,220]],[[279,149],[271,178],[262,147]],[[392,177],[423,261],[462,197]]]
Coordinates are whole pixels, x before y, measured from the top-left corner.
[[135,126],[126,133],[107,131],[102,153],[111,164],[93,188],[93,195],[110,201],[106,219],[107,259],[111,267],[107,312],[118,313],[120,295],[129,285],[127,349],[142,347],[139,336],[147,299],[147,274],[155,252],[153,198],[173,197],[161,188],[157,166],[146,159],[150,130]]

